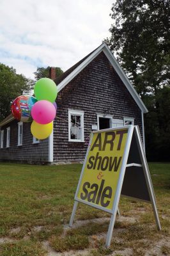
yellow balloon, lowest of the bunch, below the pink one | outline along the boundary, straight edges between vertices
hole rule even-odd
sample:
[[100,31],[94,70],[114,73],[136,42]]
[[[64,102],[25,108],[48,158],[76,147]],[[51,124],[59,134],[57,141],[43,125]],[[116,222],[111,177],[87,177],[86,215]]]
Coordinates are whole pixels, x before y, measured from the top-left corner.
[[53,122],[49,124],[38,124],[33,121],[33,123],[31,124],[31,133],[33,134],[33,136],[35,136],[36,139],[44,140],[49,137],[52,132],[52,128]]

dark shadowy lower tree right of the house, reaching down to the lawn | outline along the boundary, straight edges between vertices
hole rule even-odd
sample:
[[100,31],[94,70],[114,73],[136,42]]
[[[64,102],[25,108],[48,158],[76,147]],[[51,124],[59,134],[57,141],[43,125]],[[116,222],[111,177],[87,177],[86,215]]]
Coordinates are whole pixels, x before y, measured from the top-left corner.
[[[158,89],[154,95],[145,97],[145,104],[150,111],[144,120],[146,127],[146,154],[150,161],[169,161],[170,152],[170,88]],[[156,109],[155,104],[159,108]]]

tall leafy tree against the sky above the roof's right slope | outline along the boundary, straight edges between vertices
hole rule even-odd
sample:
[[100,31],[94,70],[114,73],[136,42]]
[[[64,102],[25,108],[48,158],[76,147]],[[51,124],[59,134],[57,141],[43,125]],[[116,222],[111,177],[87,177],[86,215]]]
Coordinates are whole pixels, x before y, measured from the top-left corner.
[[169,1],[117,0],[106,42],[143,97],[169,82]]

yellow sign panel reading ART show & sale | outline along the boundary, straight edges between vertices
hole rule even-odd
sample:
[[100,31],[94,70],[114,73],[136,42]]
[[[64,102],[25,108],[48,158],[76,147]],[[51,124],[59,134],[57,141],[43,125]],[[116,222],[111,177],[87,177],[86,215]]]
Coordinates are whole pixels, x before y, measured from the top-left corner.
[[75,200],[112,210],[127,135],[128,128],[93,134]]

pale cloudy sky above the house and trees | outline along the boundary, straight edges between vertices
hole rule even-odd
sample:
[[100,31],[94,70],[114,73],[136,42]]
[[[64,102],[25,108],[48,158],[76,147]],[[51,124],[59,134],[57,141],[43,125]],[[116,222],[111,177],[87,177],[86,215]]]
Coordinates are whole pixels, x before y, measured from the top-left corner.
[[0,0],[0,63],[34,78],[72,67],[110,36],[113,0]]

